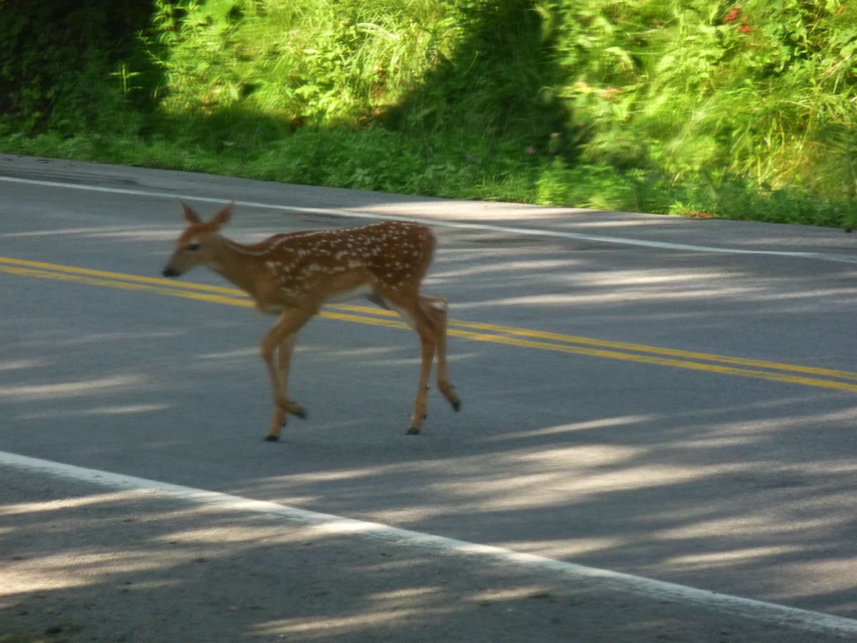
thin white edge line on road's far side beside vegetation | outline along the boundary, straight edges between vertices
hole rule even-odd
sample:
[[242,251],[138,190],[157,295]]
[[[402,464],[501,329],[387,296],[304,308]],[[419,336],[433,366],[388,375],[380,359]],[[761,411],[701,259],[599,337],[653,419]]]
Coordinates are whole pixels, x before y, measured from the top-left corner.
[[[164,194],[163,192],[144,190],[144,189],[126,189],[126,188],[108,188],[99,185],[81,185],[76,183],[62,183],[60,181],[44,181],[34,178],[19,178],[19,177],[0,177],[0,181],[7,183],[28,183],[32,185],[42,185],[50,188],[64,189],[82,189],[91,192],[107,192],[111,194],[149,196],[163,199],[183,199],[186,201],[203,201],[206,203],[222,203],[223,199],[216,199],[210,196],[198,195],[176,195]],[[464,223],[460,221],[442,221],[437,219],[422,219],[419,217],[407,217],[391,214],[375,214],[367,212],[359,212],[347,209],[330,209],[324,207],[295,207],[278,205],[275,203],[262,203],[259,201],[235,201],[237,205],[246,207],[261,207],[273,210],[285,210],[287,212],[305,212],[312,214],[327,214],[337,217],[351,217],[355,219],[399,219],[403,221],[413,221],[414,223],[422,223],[425,225],[434,225],[435,227],[458,228],[465,230],[482,230],[493,232],[511,232],[512,234],[530,235],[533,237],[559,237],[565,239],[576,239],[578,241],[591,241],[596,243],[614,243],[618,245],[630,245],[640,248],[655,248],[666,250],[683,250],[686,252],[708,252],[722,253],[731,255],[766,255],[766,256],[782,256],[798,259],[820,259],[823,261],[837,261],[840,263],[857,263],[857,257],[847,257],[842,255],[826,255],[820,252],[786,252],[782,250],[746,250],[740,248],[719,248],[716,246],[692,245],[688,243],[668,243],[664,241],[646,241],[644,239],[632,239],[630,237],[605,237],[601,235],[584,234],[582,232],[565,232],[554,230],[540,230],[538,228],[518,228],[511,225],[493,225],[481,223]]]

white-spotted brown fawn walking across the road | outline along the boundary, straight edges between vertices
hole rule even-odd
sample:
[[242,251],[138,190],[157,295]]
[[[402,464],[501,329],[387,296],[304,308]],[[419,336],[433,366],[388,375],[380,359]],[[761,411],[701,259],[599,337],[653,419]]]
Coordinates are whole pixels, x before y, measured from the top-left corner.
[[244,245],[219,234],[229,221],[230,203],[210,221],[181,203],[188,227],[163,270],[178,277],[207,266],[255,299],[256,308],[279,321],[261,344],[273,388],[273,419],[265,438],[279,439],[287,413],[305,417],[303,406],[289,399],[286,382],[297,331],[330,301],[363,296],[393,309],[417,331],[423,363],[409,434],[423,425],[428,378],[437,355],[437,385],[456,411],[458,395],[446,373],[446,299],[420,294],[434,255],[434,235],[425,225],[382,221],[359,228],[277,234]]

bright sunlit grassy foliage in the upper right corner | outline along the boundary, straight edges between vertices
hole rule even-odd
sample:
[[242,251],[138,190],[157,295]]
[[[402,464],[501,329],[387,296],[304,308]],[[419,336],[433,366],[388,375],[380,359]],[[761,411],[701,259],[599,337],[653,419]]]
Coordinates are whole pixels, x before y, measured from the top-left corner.
[[857,8],[549,3],[584,159],[674,181],[857,197]]

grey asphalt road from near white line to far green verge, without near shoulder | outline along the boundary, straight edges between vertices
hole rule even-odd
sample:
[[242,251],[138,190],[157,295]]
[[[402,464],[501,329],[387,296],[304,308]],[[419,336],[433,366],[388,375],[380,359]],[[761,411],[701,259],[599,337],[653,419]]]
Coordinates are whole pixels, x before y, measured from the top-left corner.
[[[462,411],[405,436],[416,338],[353,302],[262,442],[272,320],[159,279],[177,197],[238,240],[430,221]],[[855,276],[836,230],[0,157],[0,450],[855,619]]]

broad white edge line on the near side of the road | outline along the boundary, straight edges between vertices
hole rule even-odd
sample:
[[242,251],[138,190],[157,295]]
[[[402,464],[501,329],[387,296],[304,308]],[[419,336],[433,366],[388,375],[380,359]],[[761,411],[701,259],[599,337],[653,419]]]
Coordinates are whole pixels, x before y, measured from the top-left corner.
[[573,562],[564,562],[506,550],[502,547],[468,543],[464,540],[444,538],[428,533],[411,532],[379,523],[352,520],[333,514],[321,514],[306,509],[287,507],[276,502],[252,500],[242,496],[231,496],[217,491],[208,491],[135,478],[118,473],[86,469],[51,460],[30,458],[26,455],[10,454],[0,451],[0,464],[15,466],[33,472],[46,473],[60,478],[73,479],[90,484],[121,490],[141,490],[159,496],[177,498],[210,505],[231,511],[266,514],[269,517],[302,526],[312,526],[329,534],[351,534],[361,538],[384,540],[397,544],[422,547],[440,554],[459,553],[469,556],[482,556],[494,562],[514,563],[520,566],[542,569],[560,574],[566,580],[595,580],[600,586],[616,592],[629,592],[662,601],[696,605],[706,610],[733,614],[755,621],[767,622],[788,628],[809,632],[857,634],[857,620],[843,616],[832,616],[822,612],[800,610],[786,605],[766,603],[752,598],[741,598],[719,592],[708,592],[695,587],[654,580],[643,576],[622,574],[609,569],[592,568]]

